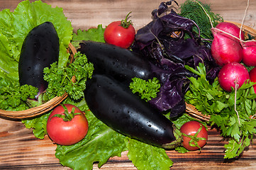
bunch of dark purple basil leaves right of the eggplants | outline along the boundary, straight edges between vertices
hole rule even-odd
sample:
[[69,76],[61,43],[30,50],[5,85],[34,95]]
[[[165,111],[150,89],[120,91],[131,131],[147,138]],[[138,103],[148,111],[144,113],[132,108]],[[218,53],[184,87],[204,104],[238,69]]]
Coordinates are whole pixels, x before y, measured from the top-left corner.
[[211,56],[211,42],[201,40],[200,30],[194,33],[194,27],[199,29],[194,21],[179,16],[173,9],[159,17],[171,4],[172,1],[161,3],[152,11],[153,20],[138,30],[132,50],[150,60],[152,72],[160,80],[160,91],[150,104],[160,111],[169,111],[170,117],[174,117],[186,109],[184,95],[190,83],[187,77],[196,77],[184,65],[196,69],[203,62],[210,83],[218,76],[220,67]]

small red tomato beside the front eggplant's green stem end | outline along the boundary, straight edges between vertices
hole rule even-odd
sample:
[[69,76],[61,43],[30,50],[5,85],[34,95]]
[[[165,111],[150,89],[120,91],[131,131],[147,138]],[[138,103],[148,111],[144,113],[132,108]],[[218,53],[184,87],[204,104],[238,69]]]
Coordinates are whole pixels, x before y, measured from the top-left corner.
[[180,128],[182,132],[182,145],[190,151],[201,149],[206,145],[208,132],[204,125],[197,121],[189,121]]

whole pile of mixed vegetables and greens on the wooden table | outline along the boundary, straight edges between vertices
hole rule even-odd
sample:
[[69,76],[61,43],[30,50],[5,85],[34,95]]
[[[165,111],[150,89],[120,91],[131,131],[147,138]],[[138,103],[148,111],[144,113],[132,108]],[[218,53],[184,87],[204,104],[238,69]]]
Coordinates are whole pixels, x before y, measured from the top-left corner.
[[[101,167],[127,150],[138,169],[169,169],[173,162],[165,149],[203,152],[207,125],[215,125],[228,139],[224,158],[239,157],[256,133],[256,69],[248,57],[254,54],[255,41],[245,40],[239,28],[230,33],[227,28],[232,24],[223,22],[206,4],[187,0],[177,13],[170,9],[173,3],[177,1],[162,2],[152,11],[152,21],[135,35],[130,13],[120,22],[128,28],[111,23],[73,33],[62,8],[41,1],[23,1],[13,12],[1,11],[0,109],[22,111],[67,93],[62,106],[22,122],[35,137],[49,135],[57,144],[60,164],[71,169],[92,169],[95,162]],[[54,50],[57,60],[38,71],[47,86],[38,98],[42,84],[21,83],[20,72],[41,66],[45,59],[23,59],[40,49],[38,39],[29,37],[44,23],[51,23],[58,36],[48,47],[60,50]],[[115,27],[123,32],[131,29],[130,40],[125,38],[128,45],[109,40],[120,40],[107,35]],[[69,42],[77,48],[72,59],[66,50]],[[235,57],[228,46],[233,43]],[[48,47],[43,50],[52,52]],[[35,62],[19,69],[22,60]],[[233,79],[237,75],[239,79]],[[186,103],[210,115],[210,120],[187,115]],[[77,125],[82,130],[77,131]]]

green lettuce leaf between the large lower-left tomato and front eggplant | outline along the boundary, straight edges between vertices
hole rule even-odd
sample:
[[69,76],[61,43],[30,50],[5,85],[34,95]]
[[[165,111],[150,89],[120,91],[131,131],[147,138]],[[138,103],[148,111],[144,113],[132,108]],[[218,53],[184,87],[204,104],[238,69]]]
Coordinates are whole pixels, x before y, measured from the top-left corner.
[[86,112],[89,130],[84,140],[75,145],[57,145],[55,156],[63,166],[72,169],[92,169],[94,162],[101,167],[110,157],[121,157],[121,152],[127,150],[126,137],[108,128],[104,123]]

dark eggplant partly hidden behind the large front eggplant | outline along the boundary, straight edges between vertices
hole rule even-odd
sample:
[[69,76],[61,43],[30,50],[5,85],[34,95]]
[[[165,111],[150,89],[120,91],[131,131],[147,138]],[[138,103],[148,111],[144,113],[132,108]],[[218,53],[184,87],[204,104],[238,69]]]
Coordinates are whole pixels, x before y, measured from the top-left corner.
[[152,79],[150,62],[135,52],[104,42],[82,41],[77,51],[94,64],[94,73],[128,83],[133,77]]

